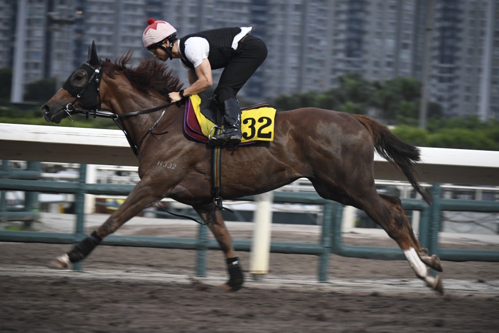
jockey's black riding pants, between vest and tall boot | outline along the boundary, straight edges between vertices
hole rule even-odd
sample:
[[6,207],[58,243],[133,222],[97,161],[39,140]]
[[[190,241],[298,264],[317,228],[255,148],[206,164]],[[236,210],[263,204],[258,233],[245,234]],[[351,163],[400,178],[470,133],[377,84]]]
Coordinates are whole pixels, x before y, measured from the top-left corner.
[[221,105],[236,94],[267,57],[267,46],[253,35],[247,35],[240,43],[236,54],[227,63],[220,76],[214,94]]

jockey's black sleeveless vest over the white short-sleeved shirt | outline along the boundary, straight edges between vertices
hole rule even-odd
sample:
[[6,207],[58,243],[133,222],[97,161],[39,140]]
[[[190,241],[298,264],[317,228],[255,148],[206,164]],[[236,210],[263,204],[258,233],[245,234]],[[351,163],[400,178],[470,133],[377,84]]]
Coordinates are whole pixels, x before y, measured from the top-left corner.
[[[192,33],[187,36],[180,38],[179,50],[184,56],[185,54],[185,41],[189,37],[203,37],[208,40],[210,45],[210,53],[208,54],[208,60],[212,69],[223,68],[231,60],[231,58],[236,54],[236,50],[232,48],[232,42],[234,37],[241,32],[240,27],[233,28],[219,28],[213,30],[206,30],[197,33]],[[181,59],[182,62],[189,68],[194,69],[194,64],[187,60]]]

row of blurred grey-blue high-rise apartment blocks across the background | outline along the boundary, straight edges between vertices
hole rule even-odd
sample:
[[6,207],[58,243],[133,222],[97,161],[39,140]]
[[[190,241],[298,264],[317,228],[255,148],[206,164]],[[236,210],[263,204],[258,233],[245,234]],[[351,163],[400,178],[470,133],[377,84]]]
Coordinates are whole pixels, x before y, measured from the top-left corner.
[[[224,26],[252,26],[268,56],[239,96],[254,102],[279,94],[324,91],[357,72],[369,81],[421,80],[425,0],[0,0],[0,67],[14,69],[12,100],[43,77],[64,80],[86,59],[132,63],[151,56],[142,45],[147,18],[169,21],[178,36]],[[447,116],[499,116],[498,0],[434,0],[428,91]],[[15,22],[12,23],[12,22]],[[187,85],[186,70],[168,61]],[[214,71],[214,82],[222,70]]]

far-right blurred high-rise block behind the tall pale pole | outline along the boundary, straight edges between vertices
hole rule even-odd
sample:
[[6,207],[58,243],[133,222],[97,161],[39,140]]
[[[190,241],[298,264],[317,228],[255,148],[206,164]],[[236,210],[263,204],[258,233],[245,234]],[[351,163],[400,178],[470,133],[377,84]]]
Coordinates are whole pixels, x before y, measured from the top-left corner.
[[429,96],[449,117],[475,114],[486,120],[499,115],[497,97],[491,96],[499,82],[492,79],[490,65],[499,51],[499,44],[494,45],[499,33],[496,2],[435,1]]

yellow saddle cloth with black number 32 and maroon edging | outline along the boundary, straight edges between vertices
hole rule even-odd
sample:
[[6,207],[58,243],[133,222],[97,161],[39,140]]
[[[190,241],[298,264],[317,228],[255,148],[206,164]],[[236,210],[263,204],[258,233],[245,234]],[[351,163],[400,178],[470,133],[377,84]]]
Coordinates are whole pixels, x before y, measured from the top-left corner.
[[[203,96],[203,103],[202,98]],[[207,142],[208,137],[214,134],[216,124],[216,111],[205,108],[204,95],[192,95],[186,101],[184,115],[184,131],[191,138]],[[203,104],[203,106],[202,106]],[[253,141],[272,141],[274,139],[275,109],[268,104],[257,104],[242,109],[241,131],[243,138],[241,144]]]

